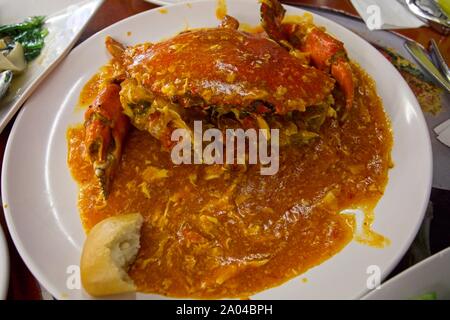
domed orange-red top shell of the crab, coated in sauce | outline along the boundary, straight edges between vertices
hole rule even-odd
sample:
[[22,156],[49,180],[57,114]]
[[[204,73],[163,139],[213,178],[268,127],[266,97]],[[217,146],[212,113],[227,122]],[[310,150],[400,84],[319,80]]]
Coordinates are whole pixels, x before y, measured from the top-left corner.
[[304,111],[325,101],[335,83],[263,35],[231,28],[128,47],[121,63],[127,78],[153,97],[186,108],[252,110],[263,103],[278,114]]

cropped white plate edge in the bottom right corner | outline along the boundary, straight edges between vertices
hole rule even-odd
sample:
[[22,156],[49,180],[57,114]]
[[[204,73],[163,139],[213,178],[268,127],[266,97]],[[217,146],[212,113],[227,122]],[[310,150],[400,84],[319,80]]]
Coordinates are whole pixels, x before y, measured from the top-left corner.
[[436,293],[438,300],[450,300],[450,248],[427,258],[390,279],[363,299],[409,300]]

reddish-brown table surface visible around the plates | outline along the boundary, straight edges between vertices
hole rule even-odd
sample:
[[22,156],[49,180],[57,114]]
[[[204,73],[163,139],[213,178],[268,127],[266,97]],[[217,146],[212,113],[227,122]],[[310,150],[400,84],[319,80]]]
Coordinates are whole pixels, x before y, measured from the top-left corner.
[[[313,5],[313,6],[325,6],[334,9],[343,10],[345,12],[357,15],[355,9],[348,0],[291,0],[285,1],[289,3],[298,3],[302,5]],[[155,8],[156,5],[147,3],[142,0],[105,0],[102,7],[98,10],[96,15],[92,18],[91,22],[88,24],[83,34],[81,35],[78,44],[89,38],[91,35],[95,34],[99,30],[105,27],[132,16],[136,13]],[[447,63],[450,62],[450,40],[449,37],[439,35],[437,32],[431,30],[430,28],[420,28],[413,30],[398,30],[399,33],[412,38],[424,46],[428,45],[430,38],[435,39]],[[449,63],[450,64],[450,63]],[[39,90],[39,89],[38,89]],[[14,121],[14,120],[13,120]],[[1,133],[0,135],[0,162],[3,163],[3,156],[5,151],[6,142],[12,127],[12,123]],[[1,176],[1,172],[0,172]],[[438,204],[441,210],[447,211],[450,207],[450,199],[448,193],[442,192],[440,190],[433,190],[432,201]],[[42,299],[39,284],[36,279],[30,273],[28,268],[23,263],[20,258],[14,244],[8,234],[3,210],[0,209],[0,223],[5,232],[10,254],[10,284],[8,291],[8,299]],[[444,219],[443,223],[448,223],[447,219]],[[444,241],[442,244],[437,244],[438,247],[445,246],[447,243]],[[440,249],[440,248],[439,248]],[[437,250],[436,250],[437,251]]]

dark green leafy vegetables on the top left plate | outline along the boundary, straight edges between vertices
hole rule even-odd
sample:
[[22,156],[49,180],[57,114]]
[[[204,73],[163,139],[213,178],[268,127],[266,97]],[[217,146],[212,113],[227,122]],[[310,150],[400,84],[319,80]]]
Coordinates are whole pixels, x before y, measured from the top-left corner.
[[8,49],[19,42],[24,49],[25,59],[35,59],[44,47],[44,39],[48,30],[44,28],[45,17],[30,17],[24,22],[0,26],[0,39],[8,39]]

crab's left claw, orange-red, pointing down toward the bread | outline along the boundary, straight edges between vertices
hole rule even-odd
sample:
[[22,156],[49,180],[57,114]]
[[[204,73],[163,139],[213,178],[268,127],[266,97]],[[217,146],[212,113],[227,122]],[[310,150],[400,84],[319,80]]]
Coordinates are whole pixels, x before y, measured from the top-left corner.
[[108,197],[129,129],[128,117],[122,113],[119,92],[119,85],[108,84],[85,113],[84,143],[104,199]]

